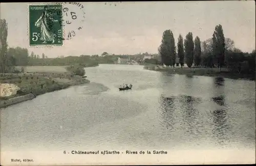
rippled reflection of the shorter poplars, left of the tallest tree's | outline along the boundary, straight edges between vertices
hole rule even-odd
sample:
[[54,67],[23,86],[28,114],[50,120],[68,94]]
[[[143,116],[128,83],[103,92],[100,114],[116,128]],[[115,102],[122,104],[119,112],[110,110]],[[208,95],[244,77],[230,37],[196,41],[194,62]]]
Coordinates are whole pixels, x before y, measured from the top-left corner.
[[199,135],[202,128],[199,127],[198,110],[196,105],[200,98],[179,95],[160,96],[163,124],[170,131],[182,130],[185,134]]

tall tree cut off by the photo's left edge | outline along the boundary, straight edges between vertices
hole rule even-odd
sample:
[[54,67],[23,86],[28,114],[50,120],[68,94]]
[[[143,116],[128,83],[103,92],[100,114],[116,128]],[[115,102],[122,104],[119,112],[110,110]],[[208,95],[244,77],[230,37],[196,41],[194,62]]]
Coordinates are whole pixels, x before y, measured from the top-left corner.
[[7,51],[8,51],[8,24],[5,19],[0,19],[0,73],[7,71]]

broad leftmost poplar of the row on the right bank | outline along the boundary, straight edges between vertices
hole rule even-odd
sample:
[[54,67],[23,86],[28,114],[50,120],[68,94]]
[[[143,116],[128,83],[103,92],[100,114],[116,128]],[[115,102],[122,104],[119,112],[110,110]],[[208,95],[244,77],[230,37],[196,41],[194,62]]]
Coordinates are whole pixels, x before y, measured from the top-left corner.
[[173,50],[172,50],[172,39],[171,38],[172,38],[172,34],[171,34],[170,30],[165,30],[163,32],[161,44],[158,48],[158,52],[161,57],[161,63],[166,66],[170,66],[173,64],[172,63]]

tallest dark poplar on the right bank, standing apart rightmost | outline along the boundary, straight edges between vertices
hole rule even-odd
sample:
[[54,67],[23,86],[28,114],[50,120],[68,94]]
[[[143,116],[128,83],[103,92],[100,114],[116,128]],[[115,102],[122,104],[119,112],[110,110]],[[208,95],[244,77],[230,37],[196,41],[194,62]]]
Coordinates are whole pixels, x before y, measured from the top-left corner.
[[215,32],[212,34],[212,44],[215,63],[217,62],[221,71],[221,66],[224,65],[225,60],[225,37],[223,34],[222,26],[220,24],[215,27]]

